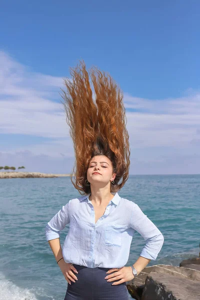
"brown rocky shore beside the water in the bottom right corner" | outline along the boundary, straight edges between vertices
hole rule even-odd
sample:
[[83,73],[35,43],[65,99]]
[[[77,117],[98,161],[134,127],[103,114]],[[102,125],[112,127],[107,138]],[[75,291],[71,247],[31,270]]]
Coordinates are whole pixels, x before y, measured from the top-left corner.
[[126,286],[136,300],[200,300],[200,257],[147,266]]

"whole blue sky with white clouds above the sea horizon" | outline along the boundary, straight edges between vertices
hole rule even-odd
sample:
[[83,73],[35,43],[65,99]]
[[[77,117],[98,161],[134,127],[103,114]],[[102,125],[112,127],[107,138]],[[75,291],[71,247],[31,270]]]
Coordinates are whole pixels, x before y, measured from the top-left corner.
[[83,58],[124,92],[130,174],[199,173],[199,11],[198,0],[1,3],[0,165],[71,171],[59,88]]

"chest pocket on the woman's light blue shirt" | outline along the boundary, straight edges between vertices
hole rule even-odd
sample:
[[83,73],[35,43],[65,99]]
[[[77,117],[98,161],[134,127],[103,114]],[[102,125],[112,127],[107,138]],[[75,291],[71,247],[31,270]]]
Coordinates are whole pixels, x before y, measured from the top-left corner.
[[106,246],[121,246],[121,226],[112,224],[107,225],[104,231]]

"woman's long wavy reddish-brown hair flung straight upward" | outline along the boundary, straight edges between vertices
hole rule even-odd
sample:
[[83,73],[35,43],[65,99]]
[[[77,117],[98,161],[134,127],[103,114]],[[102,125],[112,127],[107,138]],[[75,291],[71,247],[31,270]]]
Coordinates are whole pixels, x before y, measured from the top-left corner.
[[75,152],[71,182],[80,194],[90,193],[86,180],[89,161],[96,155],[105,155],[116,173],[110,192],[116,192],[128,179],[130,164],[122,91],[104,71],[92,67],[87,72],[84,61],[71,67],[70,74],[71,79],[64,78],[66,90],[61,88],[61,102]]

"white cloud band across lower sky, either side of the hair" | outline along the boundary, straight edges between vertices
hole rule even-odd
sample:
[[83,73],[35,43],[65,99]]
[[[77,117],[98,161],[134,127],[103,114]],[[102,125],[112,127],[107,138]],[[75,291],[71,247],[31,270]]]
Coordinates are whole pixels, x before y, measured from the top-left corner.
[[[0,164],[18,157],[17,151],[31,151],[32,161],[34,155],[40,159],[41,169],[43,154],[48,161],[71,160],[73,147],[59,95],[62,78],[32,72],[2,51],[0,65],[0,133],[53,139],[0,147]],[[124,93],[124,105],[131,144],[130,173],[199,172],[199,159],[192,159],[200,146],[199,92],[188,89],[183,97],[154,100]],[[178,163],[180,157],[184,157],[184,167]],[[188,166],[191,159],[192,166]],[[67,170],[60,164],[59,171]]]

